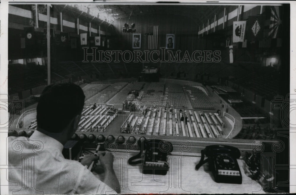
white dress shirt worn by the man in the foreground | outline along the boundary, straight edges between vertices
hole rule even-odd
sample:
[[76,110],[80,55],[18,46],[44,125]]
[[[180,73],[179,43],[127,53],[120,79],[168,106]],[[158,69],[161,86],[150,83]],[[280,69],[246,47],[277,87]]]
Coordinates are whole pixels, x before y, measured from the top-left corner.
[[8,139],[8,179],[15,183],[9,194],[117,194],[80,162],[65,159],[54,138],[35,131]]

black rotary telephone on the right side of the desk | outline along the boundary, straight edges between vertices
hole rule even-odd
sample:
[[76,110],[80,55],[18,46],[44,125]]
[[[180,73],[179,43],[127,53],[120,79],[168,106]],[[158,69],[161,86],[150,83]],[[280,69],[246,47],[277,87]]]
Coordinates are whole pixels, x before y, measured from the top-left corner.
[[[200,162],[196,165],[199,169],[203,164],[209,162],[209,169],[213,172],[217,183],[242,183],[242,173],[239,169],[237,159],[240,151],[233,146],[212,145],[201,151]],[[208,157],[204,160],[205,155]]]

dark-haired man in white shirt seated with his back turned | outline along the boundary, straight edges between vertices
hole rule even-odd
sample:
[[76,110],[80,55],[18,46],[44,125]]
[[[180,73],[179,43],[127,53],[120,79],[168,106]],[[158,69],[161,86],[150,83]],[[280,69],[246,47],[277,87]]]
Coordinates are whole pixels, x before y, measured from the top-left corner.
[[[30,138],[9,137],[8,179],[13,183],[9,194],[120,193],[110,152],[85,156],[81,163],[62,155],[63,145],[78,128],[84,99],[82,89],[71,83],[43,90],[37,106],[37,130]],[[87,169],[96,160],[104,168],[103,181]]]

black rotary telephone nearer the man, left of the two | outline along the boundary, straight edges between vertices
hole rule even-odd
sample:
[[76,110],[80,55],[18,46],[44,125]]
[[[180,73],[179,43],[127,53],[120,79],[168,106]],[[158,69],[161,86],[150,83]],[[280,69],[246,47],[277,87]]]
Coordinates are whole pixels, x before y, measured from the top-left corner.
[[168,141],[151,139],[140,142],[139,147],[139,154],[128,159],[128,164],[142,165],[144,174],[166,175],[169,169],[168,154],[173,151],[173,145]]

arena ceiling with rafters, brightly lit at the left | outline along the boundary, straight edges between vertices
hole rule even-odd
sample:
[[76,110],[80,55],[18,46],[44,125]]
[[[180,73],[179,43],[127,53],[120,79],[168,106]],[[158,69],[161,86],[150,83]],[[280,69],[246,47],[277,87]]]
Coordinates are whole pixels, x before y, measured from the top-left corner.
[[194,19],[196,23],[207,22],[215,14],[224,11],[223,5],[119,5],[76,4],[54,5],[60,12],[69,12],[74,17],[86,17],[86,21],[97,20],[112,24],[115,20],[139,15],[179,15]]

